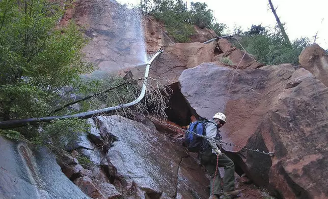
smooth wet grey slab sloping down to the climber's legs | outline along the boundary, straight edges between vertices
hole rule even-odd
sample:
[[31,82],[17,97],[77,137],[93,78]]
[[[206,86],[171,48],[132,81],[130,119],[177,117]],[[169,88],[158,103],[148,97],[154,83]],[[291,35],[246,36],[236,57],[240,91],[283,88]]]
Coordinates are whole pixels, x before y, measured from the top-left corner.
[[[107,158],[115,168],[115,173],[111,175],[116,176],[115,181],[120,181],[125,190],[134,192],[140,198],[143,198],[140,194],[160,196],[164,193],[171,198],[178,193],[192,198],[193,192],[202,198],[208,197],[203,186],[208,180],[196,162],[190,160],[188,167],[198,169],[187,170],[187,174],[181,175],[178,172],[184,167],[182,158],[185,161],[190,159],[184,148],[173,144],[158,131],[123,117],[97,119],[100,131],[110,130],[118,138],[108,151]],[[189,180],[188,177],[195,175],[195,172],[199,173],[198,181]],[[178,179],[182,177],[187,179],[183,182],[186,186],[177,188]]]

